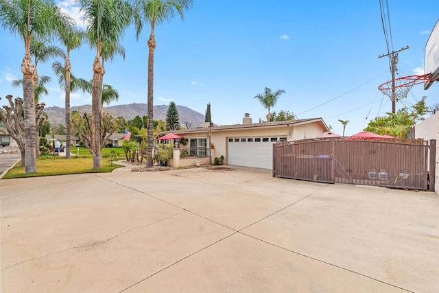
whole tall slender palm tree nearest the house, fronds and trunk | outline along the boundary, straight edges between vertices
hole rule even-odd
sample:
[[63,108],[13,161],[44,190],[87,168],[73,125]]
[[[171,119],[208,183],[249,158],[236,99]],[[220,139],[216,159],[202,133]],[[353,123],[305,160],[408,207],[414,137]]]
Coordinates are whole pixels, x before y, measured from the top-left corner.
[[154,27],[163,21],[169,21],[177,13],[181,19],[184,19],[183,12],[192,6],[192,0],[136,0],[135,11],[140,14],[136,18],[136,37],[139,38],[143,27],[143,21],[150,23],[150,38],[147,41],[149,48],[148,53],[148,97],[147,97],[147,148],[146,148],[146,166],[152,167],[152,142],[153,142],[153,117],[152,110],[154,107],[154,49],[156,48],[156,39],[154,37]]

